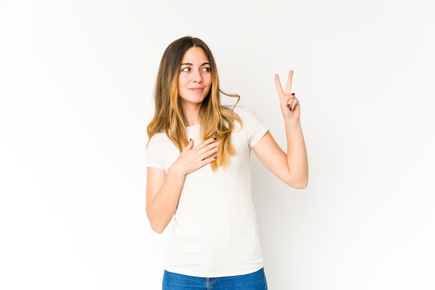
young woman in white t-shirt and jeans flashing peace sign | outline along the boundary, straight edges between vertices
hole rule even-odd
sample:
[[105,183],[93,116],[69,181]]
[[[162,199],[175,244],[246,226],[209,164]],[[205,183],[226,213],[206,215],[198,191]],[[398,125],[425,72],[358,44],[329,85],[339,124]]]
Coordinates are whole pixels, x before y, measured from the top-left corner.
[[[208,46],[194,37],[170,44],[147,127],[147,216],[163,232],[174,218],[163,289],[267,289],[251,196],[251,149],[290,187],[305,188],[308,161],[300,106],[275,83],[286,124],[287,152],[256,115],[220,104],[219,78]],[[235,94],[227,94],[240,98]]]

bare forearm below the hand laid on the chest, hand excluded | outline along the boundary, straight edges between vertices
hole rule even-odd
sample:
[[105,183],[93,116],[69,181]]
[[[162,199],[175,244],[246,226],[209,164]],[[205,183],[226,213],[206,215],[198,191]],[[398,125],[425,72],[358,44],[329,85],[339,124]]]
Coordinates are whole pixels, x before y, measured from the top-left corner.
[[154,231],[163,232],[174,216],[181,189],[183,189],[184,178],[183,173],[169,169],[161,188],[158,189],[154,198],[147,201],[147,216]]

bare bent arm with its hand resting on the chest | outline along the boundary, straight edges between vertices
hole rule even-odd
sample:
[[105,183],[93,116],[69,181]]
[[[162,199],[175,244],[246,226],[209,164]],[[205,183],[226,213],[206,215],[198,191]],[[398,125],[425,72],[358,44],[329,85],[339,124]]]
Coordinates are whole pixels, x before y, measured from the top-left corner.
[[167,173],[163,169],[147,168],[146,208],[154,231],[161,233],[165,230],[177,210],[184,178],[188,173],[215,161],[213,154],[216,153],[218,144],[212,138],[193,148],[193,141],[190,140]]

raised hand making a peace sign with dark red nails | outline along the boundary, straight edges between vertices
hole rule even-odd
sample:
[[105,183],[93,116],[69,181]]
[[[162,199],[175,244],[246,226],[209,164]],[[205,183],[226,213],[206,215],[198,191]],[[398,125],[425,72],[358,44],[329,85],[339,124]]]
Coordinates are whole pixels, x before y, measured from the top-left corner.
[[296,99],[295,93],[291,92],[293,71],[288,72],[286,91],[282,88],[279,76],[275,74],[275,85],[279,94],[279,101],[281,104],[281,111],[284,119],[299,120],[300,119],[300,105],[299,100]]

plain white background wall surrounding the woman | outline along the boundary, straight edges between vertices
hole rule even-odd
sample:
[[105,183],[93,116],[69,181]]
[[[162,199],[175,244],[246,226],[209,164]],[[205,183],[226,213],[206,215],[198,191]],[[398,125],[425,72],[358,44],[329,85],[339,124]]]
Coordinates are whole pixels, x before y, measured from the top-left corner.
[[145,128],[193,35],[283,147],[273,76],[295,71],[309,187],[252,158],[269,288],[434,289],[430,2],[1,0],[0,288],[161,287]]

